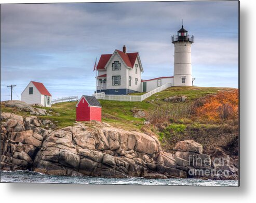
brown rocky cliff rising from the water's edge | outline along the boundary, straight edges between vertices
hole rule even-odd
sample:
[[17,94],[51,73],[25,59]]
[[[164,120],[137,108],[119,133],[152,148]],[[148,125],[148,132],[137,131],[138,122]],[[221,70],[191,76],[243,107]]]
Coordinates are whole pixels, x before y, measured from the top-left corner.
[[[175,150],[176,154],[164,152],[155,136],[104,123],[51,129],[51,121],[1,112],[2,170],[119,178],[238,178],[232,159],[220,165],[193,140],[178,142]],[[216,173],[224,170],[225,174]]]

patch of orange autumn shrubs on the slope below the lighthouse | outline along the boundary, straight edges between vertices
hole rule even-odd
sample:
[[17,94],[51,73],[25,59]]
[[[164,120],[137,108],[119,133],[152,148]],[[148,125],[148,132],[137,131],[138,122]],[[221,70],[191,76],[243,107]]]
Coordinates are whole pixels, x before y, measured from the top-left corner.
[[210,120],[238,118],[238,90],[208,96],[204,104],[196,108],[196,115]]

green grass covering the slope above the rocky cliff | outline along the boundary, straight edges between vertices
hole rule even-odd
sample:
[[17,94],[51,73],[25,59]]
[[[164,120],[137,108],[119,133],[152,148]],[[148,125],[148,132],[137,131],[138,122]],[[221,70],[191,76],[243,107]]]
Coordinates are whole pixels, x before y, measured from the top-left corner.
[[[185,103],[168,103],[169,108],[178,109],[183,108],[192,100],[205,96],[207,94],[215,94],[220,90],[232,91],[232,88],[199,88],[199,87],[171,87],[162,92],[156,93],[142,102],[129,101],[110,101],[100,100],[102,105],[102,122],[109,123],[112,126],[120,127],[128,130],[140,130],[144,125],[144,118],[134,118],[132,109],[140,109],[146,112],[154,110],[159,104],[163,104],[163,99],[170,96],[187,96]],[[143,93],[134,93],[132,95],[139,95]],[[151,100],[154,100],[151,102]],[[149,102],[150,101],[150,102]],[[53,104],[52,107],[46,108],[51,116],[40,116],[41,119],[47,119],[54,122],[58,127],[66,127],[73,125],[76,118],[76,102],[64,102]],[[38,107],[37,107],[38,108]],[[5,107],[1,103],[1,111],[13,112],[18,115],[27,116],[29,112],[18,111],[15,108]]]

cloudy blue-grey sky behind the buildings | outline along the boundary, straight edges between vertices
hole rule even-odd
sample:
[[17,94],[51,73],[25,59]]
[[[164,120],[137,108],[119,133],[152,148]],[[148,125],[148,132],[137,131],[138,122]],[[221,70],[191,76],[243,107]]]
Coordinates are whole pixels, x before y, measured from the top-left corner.
[[173,76],[174,46],[183,19],[194,36],[196,86],[238,88],[238,1],[1,5],[1,100],[6,85],[43,82],[52,99],[91,95],[101,54],[139,52],[142,79]]

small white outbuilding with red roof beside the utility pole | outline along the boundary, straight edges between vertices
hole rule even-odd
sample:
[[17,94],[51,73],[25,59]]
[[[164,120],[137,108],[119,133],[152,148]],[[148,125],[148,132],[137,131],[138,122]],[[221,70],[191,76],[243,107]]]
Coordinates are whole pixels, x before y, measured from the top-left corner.
[[21,93],[21,100],[27,104],[41,104],[44,107],[51,107],[51,94],[41,82],[30,81]]

